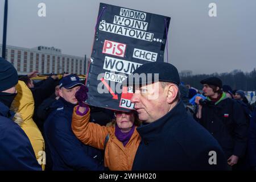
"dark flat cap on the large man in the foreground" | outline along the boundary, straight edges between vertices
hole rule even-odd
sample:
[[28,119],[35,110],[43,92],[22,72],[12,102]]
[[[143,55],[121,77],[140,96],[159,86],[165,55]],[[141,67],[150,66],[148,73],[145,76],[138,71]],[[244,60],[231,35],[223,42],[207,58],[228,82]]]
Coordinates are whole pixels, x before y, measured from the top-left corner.
[[173,82],[179,85],[180,77],[177,68],[169,63],[146,63],[135,69],[122,84],[123,86],[147,85],[157,81]]

